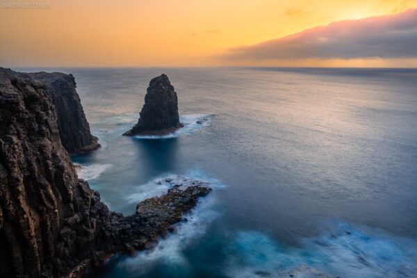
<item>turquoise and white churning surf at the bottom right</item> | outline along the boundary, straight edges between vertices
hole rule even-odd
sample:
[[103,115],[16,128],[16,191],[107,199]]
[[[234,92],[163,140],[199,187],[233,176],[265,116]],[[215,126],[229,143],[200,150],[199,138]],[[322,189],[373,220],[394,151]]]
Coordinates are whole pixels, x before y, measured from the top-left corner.
[[258,231],[240,231],[229,247],[229,277],[416,277],[417,243],[338,223],[286,248]]

